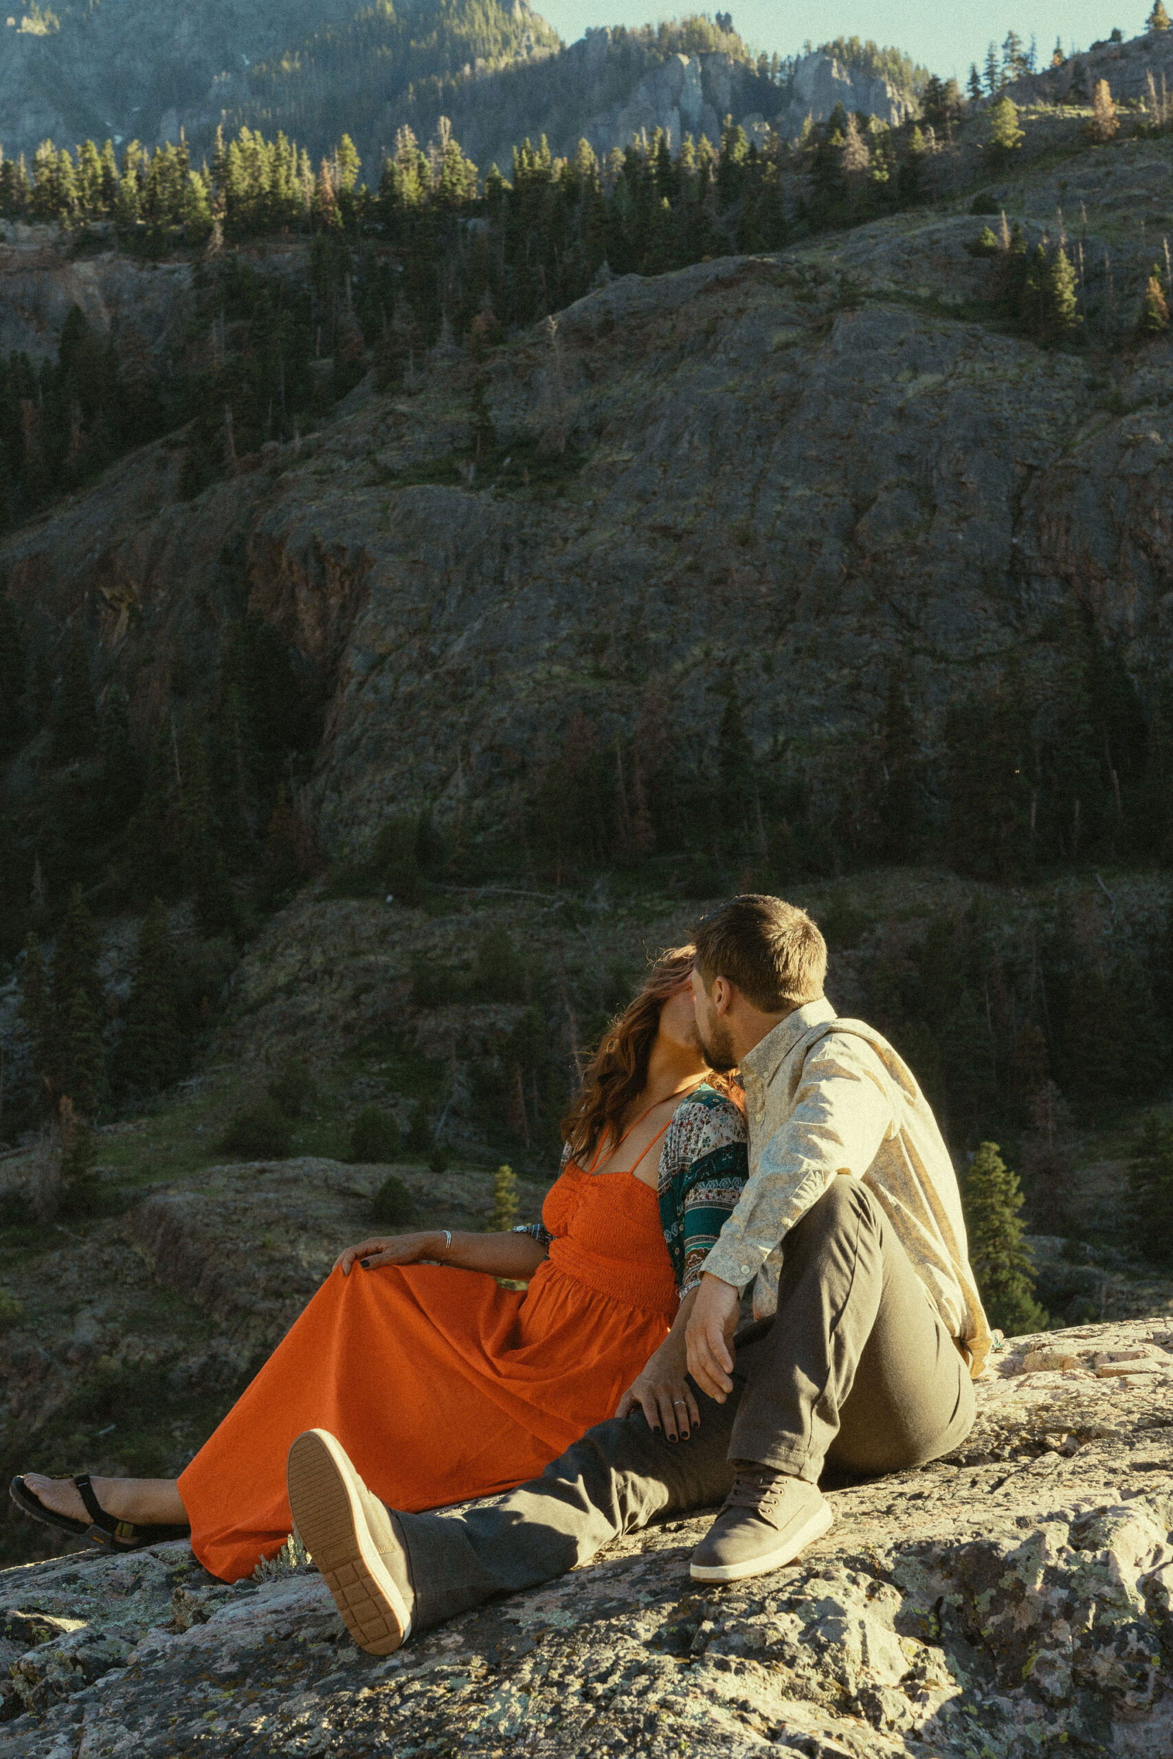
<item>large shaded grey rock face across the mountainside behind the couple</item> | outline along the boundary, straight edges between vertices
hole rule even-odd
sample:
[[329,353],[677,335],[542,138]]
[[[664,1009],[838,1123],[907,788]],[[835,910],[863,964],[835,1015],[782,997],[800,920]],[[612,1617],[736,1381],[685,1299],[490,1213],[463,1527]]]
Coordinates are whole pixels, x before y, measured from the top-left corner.
[[137,454],[0,559],[26,612],[98,612],[148,714],[174,637],[211,631],[211,570],[244,556],[255,609],[331,679],[327,841],[426,800],[499,823],[575,716],[610,744],[661,704],[691,762],[728,679],[760,751],[818,767],[899,665],[932,753],[962,686],[1009,653],[1052,663],[1076,596],[1148,688],[1169,660],[1173,354],[1118,343],[1171,162],[1162,135],[990,181],[1031,243],[1080,216],[1111,352],[1008,334],[967,252],[983,222],[943,202],[612,281],[484,368],[441,345],[404,392],[361,387],[190,503],[179,454]]

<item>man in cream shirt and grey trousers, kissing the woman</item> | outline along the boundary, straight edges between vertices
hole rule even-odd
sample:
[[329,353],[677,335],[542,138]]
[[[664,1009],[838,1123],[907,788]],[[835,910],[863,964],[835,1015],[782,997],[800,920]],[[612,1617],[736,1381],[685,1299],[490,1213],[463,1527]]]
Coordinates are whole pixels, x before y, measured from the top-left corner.
[[742,1071],[749,1180],[688,1321],[691,1427],[637,1407],[463,1514],[385,1509],[334,1437],[297,1437],[294,1520],[361,1646],[385,1655],[716,1502],[691,1574],[779,1569],[832,1522],[825,1472],[900,1471],[965,1439],[990,1333],[953,1166],[914,1077],[835,1017],[825,971],[823,936],[781,899],[735,897],[698,925],[696,1029],[714,1068]]

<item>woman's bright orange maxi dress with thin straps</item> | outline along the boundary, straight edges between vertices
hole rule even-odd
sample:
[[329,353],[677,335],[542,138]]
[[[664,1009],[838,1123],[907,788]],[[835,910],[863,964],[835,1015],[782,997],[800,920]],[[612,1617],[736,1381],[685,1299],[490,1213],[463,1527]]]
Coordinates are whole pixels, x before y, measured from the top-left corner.
[[512,1490],[614,1416],[677,1312],[656,1193],[570,1161],[542,1221],[554,1240],[524,1293],[443,1265],[331,1272],[179,1478],[213,1576],[285,1543],[302,1430],[336,1435],[390,1507],[434,1509]]

